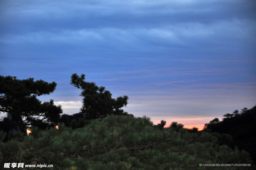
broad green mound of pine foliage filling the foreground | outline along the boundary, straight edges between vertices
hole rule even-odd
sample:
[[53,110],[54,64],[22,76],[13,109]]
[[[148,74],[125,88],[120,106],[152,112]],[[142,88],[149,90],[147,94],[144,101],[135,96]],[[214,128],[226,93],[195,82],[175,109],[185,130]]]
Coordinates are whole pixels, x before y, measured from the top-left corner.
[[[177,131],[177,123],[174,124],[176,126],[160,130],[145,116],[109,115],[74,130],[64,123],[58,124],[59,129],[34,127],[33,134],[23,141],[17,138],[0,142],[0,166],[6,162],[24,162],[54,165],[40,168],[47,170],[256,168],[247,152],[219,145],[218,137],[208,132],[184,128]],[[247,163],[252,166],[199,167],[200,163]]]

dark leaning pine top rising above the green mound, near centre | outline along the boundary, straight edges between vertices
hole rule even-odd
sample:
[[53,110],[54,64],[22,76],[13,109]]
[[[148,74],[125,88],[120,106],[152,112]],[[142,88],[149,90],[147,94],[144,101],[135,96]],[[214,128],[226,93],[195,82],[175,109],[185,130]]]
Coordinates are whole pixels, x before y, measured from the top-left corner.
[[131,115],[121,109],[127,106],[128,96],[112,98],[112,94],[105,90],[105,87],[98,87],[94,82],[86,82],[84,77],[84,74],[79,77],[74,73],[71,76],[70,84],[82,89],[80,96],[83,97],[83,105],[80,111],[86,119],[102,118],[107,114]]

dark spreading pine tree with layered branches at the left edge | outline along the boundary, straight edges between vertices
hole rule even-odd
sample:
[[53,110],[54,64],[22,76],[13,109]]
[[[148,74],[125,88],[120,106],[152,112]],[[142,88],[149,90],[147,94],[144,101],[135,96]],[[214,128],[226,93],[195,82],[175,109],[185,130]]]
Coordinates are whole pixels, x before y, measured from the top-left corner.
[[6,112],[25,118],[22,123],[11,121],[0,123],[26,128],[31,125],[54,126],[62,113],[61,106],[54,105],[52,99],[42,103],[36,97],[49,95],[54,92],[56,86],[56,82],[34,81],[33,78],[19,80],[12,76],[0,76],[0,113]]

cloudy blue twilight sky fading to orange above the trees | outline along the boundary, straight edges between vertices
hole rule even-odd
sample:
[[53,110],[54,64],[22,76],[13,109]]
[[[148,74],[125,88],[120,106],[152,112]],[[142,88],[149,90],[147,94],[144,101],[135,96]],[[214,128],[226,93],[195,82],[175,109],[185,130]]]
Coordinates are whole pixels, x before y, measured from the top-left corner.
[[256,103],[254,0],[0,2],[0,75],[57,82],[78,113],[72,73],[128,95],[125,111],[202,129]]

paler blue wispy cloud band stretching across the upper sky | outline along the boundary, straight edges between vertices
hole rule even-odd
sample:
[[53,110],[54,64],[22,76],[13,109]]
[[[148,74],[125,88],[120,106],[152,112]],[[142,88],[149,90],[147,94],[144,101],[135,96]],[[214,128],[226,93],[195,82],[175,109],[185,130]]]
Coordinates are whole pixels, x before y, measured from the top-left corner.
[[[84,28],[78,30],[38,31],[22,35],[2,35],[1,42],[10,45],[71,46],[73,49],[111,53],[119,51],[168,51],[172,48],[243,48],[255,35],[253,25],[244,20],[219,21],[212,24],[180,23],[156,28]],[[63,47],[61,47],[63,46]],[[250,45],[249,45],[250,46]],[[68,48],[70,49],[70,48]]]

